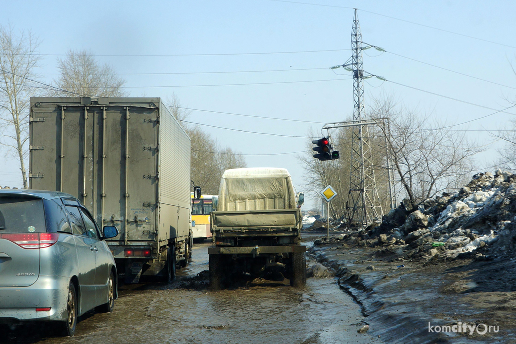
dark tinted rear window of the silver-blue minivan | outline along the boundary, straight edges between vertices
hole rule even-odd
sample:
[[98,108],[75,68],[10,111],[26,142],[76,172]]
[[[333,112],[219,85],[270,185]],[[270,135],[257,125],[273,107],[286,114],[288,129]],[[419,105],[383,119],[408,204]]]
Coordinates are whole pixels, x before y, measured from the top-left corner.
[[[2,233],[44,233],[45,214],[41,199],[20,197],[0,197],[0,218],[5,225]],[[5,229],[2,229],[5,227]]]

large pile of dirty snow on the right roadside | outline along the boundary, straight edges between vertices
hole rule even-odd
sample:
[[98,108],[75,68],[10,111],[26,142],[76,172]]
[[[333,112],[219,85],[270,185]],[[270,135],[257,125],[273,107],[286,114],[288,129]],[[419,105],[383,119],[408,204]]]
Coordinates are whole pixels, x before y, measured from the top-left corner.
[[379,226],[334,240],[383,247],[406,259],[516,257],[515,181],[516,175],[499,169],[479,173],[455,195],[418,205],[404,199]]

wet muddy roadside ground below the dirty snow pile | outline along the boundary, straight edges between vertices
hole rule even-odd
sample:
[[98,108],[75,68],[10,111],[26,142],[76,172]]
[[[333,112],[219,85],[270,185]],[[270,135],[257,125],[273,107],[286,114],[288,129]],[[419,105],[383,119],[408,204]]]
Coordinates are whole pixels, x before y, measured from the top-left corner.
[[[402,247],[359,247],[334,238],[311,253],[335,271],[341,288],[361,305],[368,334],[382,341],[516,342],[514,259],[405,260]],[[479,327],[441,331],[464,323]],[[480,324],[488,326],[485,334]]]

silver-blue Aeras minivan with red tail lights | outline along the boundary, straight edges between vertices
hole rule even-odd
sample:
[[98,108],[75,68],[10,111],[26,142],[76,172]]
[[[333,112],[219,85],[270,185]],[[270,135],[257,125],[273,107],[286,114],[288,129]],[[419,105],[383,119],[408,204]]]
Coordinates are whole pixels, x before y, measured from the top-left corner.
[[0,190],[0,323],[55,321],[73,336],[90,309],[112,312],[117,269],[93,217],[75,197]]

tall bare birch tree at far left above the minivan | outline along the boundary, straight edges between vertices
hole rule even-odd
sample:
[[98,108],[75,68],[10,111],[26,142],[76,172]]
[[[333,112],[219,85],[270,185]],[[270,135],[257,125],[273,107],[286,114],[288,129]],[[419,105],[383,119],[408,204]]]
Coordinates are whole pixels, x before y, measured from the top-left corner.
[[20,161],[24,189],[28,187],[29,99],[41,59],[36,53],[39,43],[30,32],[16,35],[11,26],[0,26],[0,144]]

